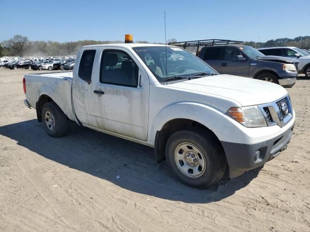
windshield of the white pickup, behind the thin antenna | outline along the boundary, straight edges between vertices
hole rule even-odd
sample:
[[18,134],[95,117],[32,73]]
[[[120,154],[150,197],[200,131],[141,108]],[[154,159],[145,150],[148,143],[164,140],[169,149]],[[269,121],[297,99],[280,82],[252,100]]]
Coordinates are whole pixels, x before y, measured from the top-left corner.
[[203,75],[218,74],[201,59],[179,47],[134,47],[133,50],[159,82],[165,82],[167,78],[171,79],[172,77],[178,77],[175,80],[180,80],[182,77],[188,79],[189,77],[197,78]]

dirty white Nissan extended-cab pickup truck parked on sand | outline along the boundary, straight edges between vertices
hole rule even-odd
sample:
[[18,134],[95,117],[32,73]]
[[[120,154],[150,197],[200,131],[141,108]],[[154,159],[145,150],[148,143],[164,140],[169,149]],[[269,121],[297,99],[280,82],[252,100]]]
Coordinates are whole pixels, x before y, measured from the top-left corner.
[[273,159],[295,123],[283,87],[220,75],[174,46],[84,46],[73,73],[26,74],[23,86],[48,135],[65,135],[71,121],[154,147],[157,162],[196,188]]

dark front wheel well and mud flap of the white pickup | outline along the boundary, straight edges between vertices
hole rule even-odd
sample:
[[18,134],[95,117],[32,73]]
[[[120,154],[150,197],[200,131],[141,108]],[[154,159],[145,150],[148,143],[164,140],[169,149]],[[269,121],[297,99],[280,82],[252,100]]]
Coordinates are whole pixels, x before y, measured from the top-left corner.
[[[171,121],[167,122],[163,126],[161,131],[156,132],[156,135],[155,135],[155,160],[156,162],[161,162],[165,160],[166,143],[169,137],[173,133],[177,131],[185,130],[188,128],[193,128],[193,127],[200,127],[210,132],[215,137],[215,139],[217,139],[217,141],[219,142],[217,136],[215,135],[213,131],[211,131],[210,129],[208,129],[207,127],[205,127],[204,125],[202,125],[201,123],[197,121],[186,119],[186,118],[172,119]],[[219,144],[221,145],[220,142]]]

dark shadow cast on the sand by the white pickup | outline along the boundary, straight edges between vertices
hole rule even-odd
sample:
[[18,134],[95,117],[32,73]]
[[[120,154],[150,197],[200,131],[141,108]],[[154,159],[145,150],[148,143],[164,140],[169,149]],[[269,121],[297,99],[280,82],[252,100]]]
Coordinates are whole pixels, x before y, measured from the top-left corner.
[[202,190],[177,181],[166,162],[157,164],[154,161],[152,148],[76,124],[72,124],[70,133],[62,138],[49,137],[36,119],[2,126],[0,135],[42,157],[121,188],[171,201],[220,201],[247,186],[260,171],[260,168],[254,169],[232,180],[224,180],[217,187]]

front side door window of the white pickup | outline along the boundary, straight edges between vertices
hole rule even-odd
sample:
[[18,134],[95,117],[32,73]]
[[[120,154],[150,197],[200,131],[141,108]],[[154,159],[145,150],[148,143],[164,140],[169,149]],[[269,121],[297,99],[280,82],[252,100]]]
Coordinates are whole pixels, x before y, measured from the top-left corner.
[[111,49],[103,52],[100,67],[101,83],[137,87],[138,76],[139,68],[127,53]]

